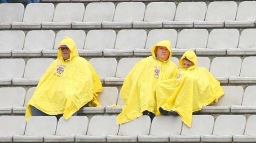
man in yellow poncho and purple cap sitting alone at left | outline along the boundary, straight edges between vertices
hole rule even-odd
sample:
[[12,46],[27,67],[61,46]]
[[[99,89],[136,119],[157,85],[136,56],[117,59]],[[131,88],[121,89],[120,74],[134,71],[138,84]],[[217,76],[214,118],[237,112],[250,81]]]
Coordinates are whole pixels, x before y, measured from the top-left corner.
[[[58,45],[57,59],[41,77],[26,105],[26,120],[32,115],[62,115],[70,118],[81,107],[99,107],[102,83],[91,64],[79,57],[75,42],[65,37]],[[33,113],[34,112],[34,113]]]

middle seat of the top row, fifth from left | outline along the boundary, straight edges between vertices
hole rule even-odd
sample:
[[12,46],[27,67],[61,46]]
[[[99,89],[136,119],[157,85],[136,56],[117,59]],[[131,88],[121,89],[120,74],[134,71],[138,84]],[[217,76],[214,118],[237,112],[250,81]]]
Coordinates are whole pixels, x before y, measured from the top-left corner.
[[145,4],[141,2],[122,2],[115,8],[113,21],[103,21],[104,29],[132,28],[132,21],[143,21]]

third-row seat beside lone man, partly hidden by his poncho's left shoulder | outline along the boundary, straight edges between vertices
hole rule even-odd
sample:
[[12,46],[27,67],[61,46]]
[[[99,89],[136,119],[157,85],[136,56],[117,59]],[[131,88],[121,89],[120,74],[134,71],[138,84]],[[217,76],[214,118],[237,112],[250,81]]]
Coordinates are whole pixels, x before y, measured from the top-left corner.
[[29,59],[23,78],[13,78],[13,85],[37,85],[41,76],[53,62],[54,59]]

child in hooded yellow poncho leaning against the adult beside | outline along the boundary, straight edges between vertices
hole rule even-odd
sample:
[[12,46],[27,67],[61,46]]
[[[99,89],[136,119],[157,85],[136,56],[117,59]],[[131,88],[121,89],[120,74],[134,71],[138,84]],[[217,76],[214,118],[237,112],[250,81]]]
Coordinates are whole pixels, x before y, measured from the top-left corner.
[[194,111],[216,103],[225,94],[220,82],[206,68],[196,67],[196,64],[194,51],[188,50],[179,61],[180,73],[177,78],[159,82],[156,90],[160,113],[179,115],[189,127]]

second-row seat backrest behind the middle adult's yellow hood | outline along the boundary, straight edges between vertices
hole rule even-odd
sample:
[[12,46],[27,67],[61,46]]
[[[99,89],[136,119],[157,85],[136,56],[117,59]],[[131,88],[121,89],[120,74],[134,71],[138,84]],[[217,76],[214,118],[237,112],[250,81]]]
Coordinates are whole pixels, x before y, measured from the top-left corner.
[[169,40],[171,42],[172,48],[176,47],[177,42],[177,31],[175,29],[153,29],[150,30],[147,41],[146,49],[152,49],[158,42],[162,40]]

